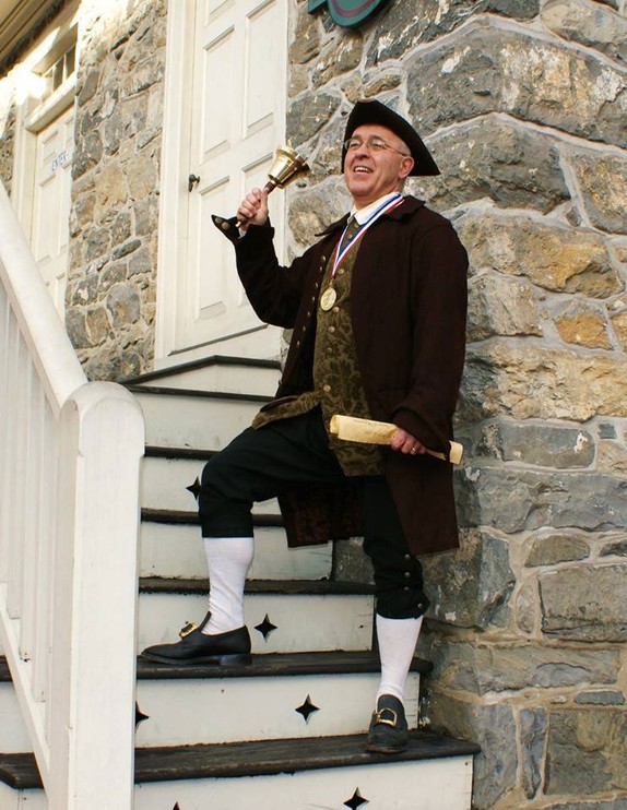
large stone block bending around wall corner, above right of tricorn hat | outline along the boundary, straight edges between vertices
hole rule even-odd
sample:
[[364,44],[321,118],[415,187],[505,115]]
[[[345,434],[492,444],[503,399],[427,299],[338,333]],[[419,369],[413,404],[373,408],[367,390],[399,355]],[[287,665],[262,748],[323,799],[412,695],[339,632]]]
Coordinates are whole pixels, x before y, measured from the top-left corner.
[[624,72],[590,52],[497,23],[482,21],[417,53],[407,86],[411,112],[425,134],[507,112],[579,138],[627,144]]

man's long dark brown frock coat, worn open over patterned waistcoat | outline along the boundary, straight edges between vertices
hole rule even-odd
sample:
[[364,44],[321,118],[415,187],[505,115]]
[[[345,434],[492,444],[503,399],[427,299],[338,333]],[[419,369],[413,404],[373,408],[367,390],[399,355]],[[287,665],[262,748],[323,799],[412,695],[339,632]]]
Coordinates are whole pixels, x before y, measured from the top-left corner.
[[[324,267],[346,217],[280,266],[273,228],[236,243],[237,270],[265,323],[293,329],[276,398],[311,391],[316,311]],[[465,344],[468,257],[451,223],[413,196],[363,236],[353,269],[352,324],[372,419],[393,421],[448,452]],[[451,465],[381,449],[385,474],[413,553],[458,546]],[[352,481],[295,488],[280,499],[291,546],[360,534]]]

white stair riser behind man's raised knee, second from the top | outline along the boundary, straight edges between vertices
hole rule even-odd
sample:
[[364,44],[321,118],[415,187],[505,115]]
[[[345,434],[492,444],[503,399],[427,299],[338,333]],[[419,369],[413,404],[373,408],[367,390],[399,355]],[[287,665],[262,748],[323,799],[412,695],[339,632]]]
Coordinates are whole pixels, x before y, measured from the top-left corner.
[[200,396],[137,394],[146,421],[146,444],[222,450],[240,433],[262,403]]

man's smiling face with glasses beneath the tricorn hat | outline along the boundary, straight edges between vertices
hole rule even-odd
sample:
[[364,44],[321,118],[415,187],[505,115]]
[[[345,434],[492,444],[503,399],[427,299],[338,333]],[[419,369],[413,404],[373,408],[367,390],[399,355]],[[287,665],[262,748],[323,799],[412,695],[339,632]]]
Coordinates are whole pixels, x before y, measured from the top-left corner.
[[[367,142],[370,139],[381,141],[392,148],[369,148]],[[353,132],[351,140],[360,142],[360,145],[346,152],[344,182],[357,209],[403,188],[414,160],[410,157],[406,145],[392,130],[379,124],[363,124]]]

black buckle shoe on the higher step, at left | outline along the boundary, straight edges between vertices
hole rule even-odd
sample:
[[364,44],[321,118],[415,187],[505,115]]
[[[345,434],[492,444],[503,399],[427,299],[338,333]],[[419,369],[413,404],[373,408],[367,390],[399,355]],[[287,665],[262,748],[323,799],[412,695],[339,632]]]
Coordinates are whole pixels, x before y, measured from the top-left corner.
[[141,657],[157,664],[213,664],[218,666],[250,664],[250,635],[247,627],[229,630],[227,633],[208,635],[202,629],[210,620],[208,614],[202,623],[187,624],[179,633],[176,644],[155,644],[146,647]]

